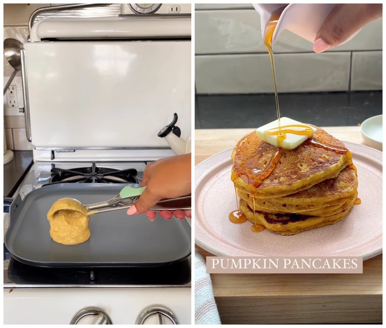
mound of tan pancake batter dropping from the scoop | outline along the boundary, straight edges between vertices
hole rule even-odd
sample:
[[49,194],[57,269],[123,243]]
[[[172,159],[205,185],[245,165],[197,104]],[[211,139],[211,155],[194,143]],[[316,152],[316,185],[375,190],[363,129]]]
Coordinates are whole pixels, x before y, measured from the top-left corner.
[[48,211],[51,238],[63,245],[76,245],[90,238],[89,212],[73,198],[61,198]]

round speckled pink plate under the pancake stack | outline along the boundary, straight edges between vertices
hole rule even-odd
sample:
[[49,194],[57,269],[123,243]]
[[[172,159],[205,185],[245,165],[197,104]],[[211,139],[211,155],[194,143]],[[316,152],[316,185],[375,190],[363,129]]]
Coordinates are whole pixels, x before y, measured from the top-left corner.
[[345,219],[291,236],[267,229],[253,233],[249,221],[235,224],[237,210],[231,181],[232,149],[195,168],[195,242],[218,256],[362,256],[382,253],[382,152],[344,142],[358,170],[358,197]]

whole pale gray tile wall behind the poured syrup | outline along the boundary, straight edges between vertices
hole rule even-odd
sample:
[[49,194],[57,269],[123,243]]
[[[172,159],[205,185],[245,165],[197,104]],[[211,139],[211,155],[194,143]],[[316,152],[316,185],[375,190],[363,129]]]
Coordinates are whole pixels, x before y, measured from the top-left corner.
[[[260,16],[251,5],[197,4],[195,7],[196,92],[272,93],[272,74],[261,36]],[[289,31],[280,35],[273,50],[280,92],[349,91],[351,87],[382,90],[382,61],[371,57],[378,53],[377,58],[382,60],[382,19],[369,23],[351,41],[324,54],[313,53],[310,42]],[[265,59],[257,60],[258,54]]]

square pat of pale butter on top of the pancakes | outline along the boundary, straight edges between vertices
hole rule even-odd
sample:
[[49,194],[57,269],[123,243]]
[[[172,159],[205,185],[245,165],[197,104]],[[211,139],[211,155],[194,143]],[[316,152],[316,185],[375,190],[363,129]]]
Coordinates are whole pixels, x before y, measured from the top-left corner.
[[[307,126],[307,127],[311,128],[313,131],[311,136],[316,132],[316,128],[309,126],[307,124],[295,121],[295,120],[291,120],[288,117],[280,118],[280,125],[281,125],[282,129],[286,125],[304,125],[304,126]],[[268,143],[272,144],[273,146],[277,147],[278,146],[277,136],[276,135],[270,136],[270,135],[266,134],[265,131],[270,130],[270,129],[277,129],[278,127],[279,127],[278,120],[276,120],[276,121],[273,121],[271,123],[268,123],[268,124],[263,125],[262,127],[258,128],[256,130],[256,134],[261,140],[268,142]],[[307,136],[295,135],[293,133],[286,132],[286,139],[284,139],[282,141],[282,148],[294,149],[299,144],[302,144],[304,141],[306,141],[307,139],[308,139]]]

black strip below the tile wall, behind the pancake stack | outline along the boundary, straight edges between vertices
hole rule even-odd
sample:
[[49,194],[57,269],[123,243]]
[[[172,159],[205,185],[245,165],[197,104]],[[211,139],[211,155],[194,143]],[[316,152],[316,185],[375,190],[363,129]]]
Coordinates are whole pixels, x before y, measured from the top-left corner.
[[[279,94],[280,115],[316,126],[357,126],[382,114],[382,91]],[[198,94],[196,129],[258,128],[277,119],[274,94]]]

